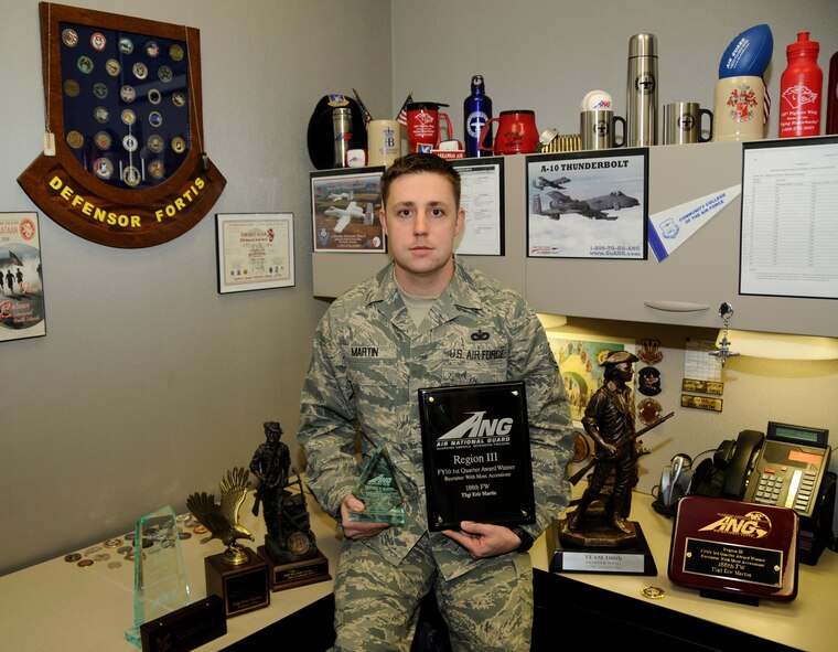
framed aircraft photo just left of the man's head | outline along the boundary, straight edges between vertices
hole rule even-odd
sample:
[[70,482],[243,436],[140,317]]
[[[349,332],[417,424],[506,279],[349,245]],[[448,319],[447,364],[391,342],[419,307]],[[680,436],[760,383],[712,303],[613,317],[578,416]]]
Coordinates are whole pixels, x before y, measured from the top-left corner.
[[378,220],[384,167],[311,172],[314,252],[387,250]]

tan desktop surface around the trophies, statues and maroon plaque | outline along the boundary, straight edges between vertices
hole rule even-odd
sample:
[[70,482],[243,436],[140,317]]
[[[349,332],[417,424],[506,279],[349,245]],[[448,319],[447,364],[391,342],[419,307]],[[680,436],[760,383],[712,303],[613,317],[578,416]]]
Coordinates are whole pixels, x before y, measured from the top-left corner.
[[[335,537],[334,522],[313,505],[313,501],[310,500],[309,504],[318,547],[329,557],[330,573],[334,576],[341,547]],[[655,513],[651,504],[651,496],[636,494],[631,517],[643,527],[657,564],[657,577],[582,573],[561,575],[637,600],[647,600],[641,595],[641,589],[654,585],[666,591],[662,600],[655,601],[660,607],[794,648],[813,652],[836,649],[838,619],[834,616],[832,600],[838,581],[838,554],[825,551],[817,566],[801,565],[799,590],[797,598],[791,602],[762,600],[759,607],[752,607],[701,598],[697,590],[669,581],[666,569],[673,522]],[[243,515],[243,520],[246,526],[254,530],[256,541],[260,543],[265,532],[260,520],[253,519],[249,512]],[[204,536],[194,535],[182,542],[193,600],[206,595],[204,557],[223,551],[217,541],[202,544]],[[78,552],[84,554],[85,551]],[[534,566],[541,570],[548,570],[551,555],[545,536],[530,551]],[[112,555],[111,560],[117,558],[118,555]],[[201,652],[230,645],[331,591],[332,581],[323,581],[271,594],[269,607],[230,618],[227,634],[202,646]],[[136,651],[125,639],[125,631],[132,624],[133,617],[133,564],[123,562],[119,568],[109,568],[108,562],[97,562],[88,568],[79,568],[76,564],[57,558],[0,577],[0,613],[3,649],[33,652]]]

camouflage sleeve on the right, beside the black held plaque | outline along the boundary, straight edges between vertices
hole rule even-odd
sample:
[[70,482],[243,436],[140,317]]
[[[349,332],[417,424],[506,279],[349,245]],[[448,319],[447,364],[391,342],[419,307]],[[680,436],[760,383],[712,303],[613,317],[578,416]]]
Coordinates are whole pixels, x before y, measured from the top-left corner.
[[536,523],[524,530],[536,538],[570,499],[567,464],[573,451],[573,424],[559,366],[535,312],[522,302],[511,324],[509,370],[512,378],[525,381],[527,387],[536,499]]

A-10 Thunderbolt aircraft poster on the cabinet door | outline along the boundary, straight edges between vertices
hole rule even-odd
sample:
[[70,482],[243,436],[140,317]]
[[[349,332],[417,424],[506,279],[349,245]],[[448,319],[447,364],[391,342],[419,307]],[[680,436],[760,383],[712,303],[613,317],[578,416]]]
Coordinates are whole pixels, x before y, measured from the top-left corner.
[[527,157],[527,257],[645,260],[648,150]]

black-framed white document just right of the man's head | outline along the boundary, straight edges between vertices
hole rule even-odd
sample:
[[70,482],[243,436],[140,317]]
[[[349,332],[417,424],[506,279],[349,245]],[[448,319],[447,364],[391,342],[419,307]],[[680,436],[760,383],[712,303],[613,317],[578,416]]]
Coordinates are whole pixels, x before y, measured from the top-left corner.
[[454,243],[454,252],[466,256],[505,254],[504,158],[452,159],[460,173],[460,205],[465,225]]

